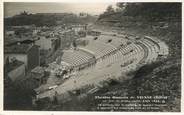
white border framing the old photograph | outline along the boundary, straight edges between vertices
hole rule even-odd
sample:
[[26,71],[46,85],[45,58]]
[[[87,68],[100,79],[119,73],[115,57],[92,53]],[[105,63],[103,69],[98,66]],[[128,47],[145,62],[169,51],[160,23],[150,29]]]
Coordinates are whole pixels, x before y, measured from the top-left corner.
[[[3,111],[3,15],[4,15],[4,9],[3,9],[3,2],[61,2],[61,3],[112,3],[112,2],[182,2],[182,0],[2,0],[0,1],[0,115],[99,115],[99,114],[106,114],[106,115],[111,115],[111,114],[117,114],[117,115],[122,115],[122,114],[128,114],[128,115],[184,115],[184,63],[183,63],[183,54],[184,54],[184,46],[183,46],[183,31],[182,31],[182,76],[181,76],[181,92],[182,92],[182,97],[181,97],[181,112],[78,112],[78,111]],[[183,2],[182,2],[182,16],[184,16],[184,7],[183,7]],[[182,19],[182,30],[183,30],[183,19]]]

